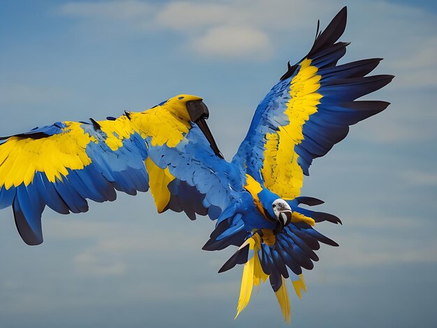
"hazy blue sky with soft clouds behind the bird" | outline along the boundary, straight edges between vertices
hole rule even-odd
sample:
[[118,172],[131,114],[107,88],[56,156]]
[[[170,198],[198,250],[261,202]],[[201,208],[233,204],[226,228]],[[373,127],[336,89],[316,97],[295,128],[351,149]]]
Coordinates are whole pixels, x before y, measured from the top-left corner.
[[[323,247],[294,327],[436,327],[436,1],[0,1],[0,135],[202,96],[230,160],[256,105],[348,6],[343,63],[382,57],[392,103],[313,162],[302,195],[343,225]],[[214,223],[156,214],[151,195],[46,209],[27,246],[0,211],[1,327],[285,327],[268,283],[233,320],[235,249],[202,251]],[[291,284],[289,284],[290,287]]]

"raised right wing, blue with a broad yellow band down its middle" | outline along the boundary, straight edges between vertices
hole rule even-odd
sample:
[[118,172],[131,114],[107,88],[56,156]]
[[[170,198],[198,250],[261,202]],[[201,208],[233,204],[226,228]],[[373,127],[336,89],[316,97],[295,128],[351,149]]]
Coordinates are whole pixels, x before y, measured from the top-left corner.
[[366,76],[381,59],[337,65],[348,43],[346,7],[318,33],[309,54],[258,105],[233,161],[284,199],[300,193],[313,158],[327,154],[349,126],[384,110],[384,101],[354,101],[388,84],[392,75]]

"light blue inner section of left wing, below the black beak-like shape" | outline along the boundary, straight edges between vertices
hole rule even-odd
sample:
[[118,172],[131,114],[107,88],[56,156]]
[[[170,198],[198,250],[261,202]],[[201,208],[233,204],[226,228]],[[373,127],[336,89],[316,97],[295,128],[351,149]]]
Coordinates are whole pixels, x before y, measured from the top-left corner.
[[208,214],[215,220],[243,190],[244,174],[239,167],[216,156],[195,124],[177,147],[151,147],[149,156],[176,177],[169,185],[167,208],[184,210],[191,219],[195,214]]

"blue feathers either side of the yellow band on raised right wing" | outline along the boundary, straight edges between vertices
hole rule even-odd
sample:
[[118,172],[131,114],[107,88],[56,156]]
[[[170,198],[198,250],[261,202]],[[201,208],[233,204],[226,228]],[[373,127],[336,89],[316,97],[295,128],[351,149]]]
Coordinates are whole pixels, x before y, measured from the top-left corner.
[[[332,20],[318,35],[306,59],[318,68],[322,96],[317,112],[311,114],[302,126],[304,140],[295,146],[299,155],[298,164],[309,175],[309,166],[314,158],[324,156],[334,144],[348,134],[348,126],[384,110],[389,103],[383,101],[353,101],[388,84],[392,75],[366,77],[381,59],[364,59],[337,66],[337,61],[346,53],[349,43],[336,42],[346,27],[346,9]],[[289,123],[284,114],[290,100],[290,82],[299,73],[299,65],[289,66],[288,72],[274,85],[258,105],[249,131],[240,145],[233,162],[262,183],[260,170],[263,167],[265,140],[268,133],[276,133]],[[290,144],[290,147],[293,145]]]

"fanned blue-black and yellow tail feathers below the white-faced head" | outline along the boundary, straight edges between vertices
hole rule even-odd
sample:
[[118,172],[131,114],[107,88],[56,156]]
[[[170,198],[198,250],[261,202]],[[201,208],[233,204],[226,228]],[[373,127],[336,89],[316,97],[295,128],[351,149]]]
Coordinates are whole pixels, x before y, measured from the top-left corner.
[[[314,251],[320,248],[320,243],[338,246],[335,241],[314,230],[313,226],[320,221],[333,223],[341,221],[336,216],[302,209],[298,206],[299,203],[316,205],[321,204],[322,201],[312,197],[300,197],[290,200],[288,203],[293,210],[290,225],[284,227],[280,232],[268,229],[252,230],[249,232],[249,236],[246,235],[246,240],[241,243],[237,252],[218,271],[228,271],[236,264],[244,264],[235,319],[249,304],[253,286],[259,286],[269,278],[270,285],[272,285],[281,307],[283,318],[285,322],[290,323],[291,310],[286,279],[290,277],[293,289],[297,297],[301,299],[302,291],[306,292],[302,268],[309,270],[313,268],[313,261],[318,260]],[[236,219],[234,220],[234,218]],[[212,236],[221,237],[228,230],[232,230],[233,233],[240,219],[240,216],[234,216],[230,220],[223,221],[217,226]],[[234,236],[234,234],[230,235]],[[228,237],[224,239],[228,239]],[[210,239],[204,248],[216,248],[216,243],[220,242],[221,240]]]

